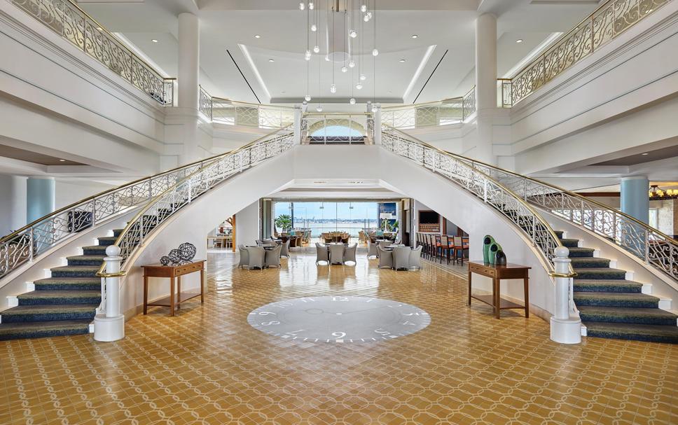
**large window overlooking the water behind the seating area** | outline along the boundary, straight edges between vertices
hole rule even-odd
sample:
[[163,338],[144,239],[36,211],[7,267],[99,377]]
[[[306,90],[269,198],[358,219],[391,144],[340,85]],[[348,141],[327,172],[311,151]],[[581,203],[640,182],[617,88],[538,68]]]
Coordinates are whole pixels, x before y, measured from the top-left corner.
[[[323,232],[343,231],[358,236],[364,228],[378,228],[379,214],[383,202],[282,202],[273,207],[274,218],[291,216],[296,229],[310,228],[312,237]],[[387,202],[393,204],[393,202]],[[383,207],[382,207],[383,210]],[[282,229],[277,229],[281,232]]]

